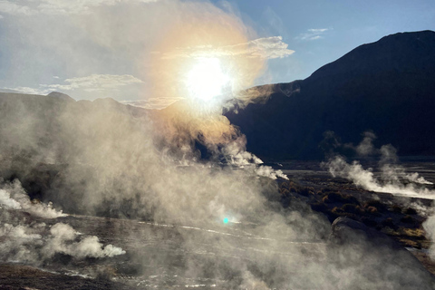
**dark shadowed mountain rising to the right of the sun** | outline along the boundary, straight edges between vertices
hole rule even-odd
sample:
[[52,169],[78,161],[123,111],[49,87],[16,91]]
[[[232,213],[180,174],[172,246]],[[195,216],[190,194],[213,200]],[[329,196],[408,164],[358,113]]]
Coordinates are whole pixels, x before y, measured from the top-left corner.
[[257,88],[266,103],[228,111],[264,159],[317,159],[333,131],[358,143],[364,131],[400,155],[435,155],[435,32],[391,34],[363,44],[303,81]]

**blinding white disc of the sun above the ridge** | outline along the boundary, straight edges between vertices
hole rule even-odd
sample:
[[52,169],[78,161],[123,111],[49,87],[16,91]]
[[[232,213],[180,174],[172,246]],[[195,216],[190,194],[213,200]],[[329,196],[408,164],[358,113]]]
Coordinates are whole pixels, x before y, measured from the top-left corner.
[[187,86],[192,97],[209,101],[223,93],[228,85],[229,77],[222,71],[217,58],[205,58],[190,70]]

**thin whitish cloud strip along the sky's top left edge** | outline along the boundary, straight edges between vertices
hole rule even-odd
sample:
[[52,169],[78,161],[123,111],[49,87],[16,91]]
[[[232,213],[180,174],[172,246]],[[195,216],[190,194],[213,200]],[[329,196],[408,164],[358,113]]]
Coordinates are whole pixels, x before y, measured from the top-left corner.
[[93,7],[121,4],[142,4],[158,0],[3,0],[0,1],[0,13],[12,15],[32,14],[86,14]]

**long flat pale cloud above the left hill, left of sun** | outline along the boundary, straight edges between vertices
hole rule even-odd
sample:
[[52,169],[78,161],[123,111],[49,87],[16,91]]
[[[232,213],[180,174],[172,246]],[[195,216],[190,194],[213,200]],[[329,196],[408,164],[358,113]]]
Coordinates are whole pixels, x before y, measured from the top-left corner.
[[141,83],[140,79],[130,74],[91,74],[85,77],[66,79],[63,84],[41,84],[41,87],[55,91],[84,90],[96,92],[118,89],[122,86]]

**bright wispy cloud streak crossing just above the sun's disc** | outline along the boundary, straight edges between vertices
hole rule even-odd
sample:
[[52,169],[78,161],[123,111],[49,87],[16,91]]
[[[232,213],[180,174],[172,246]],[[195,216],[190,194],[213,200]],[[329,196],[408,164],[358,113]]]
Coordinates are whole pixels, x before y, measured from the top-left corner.
[[283,42],[282,36],[271,36],[258,38],[247,43],[237,43],[225,46],[195,46],[180,47],[176,50],[163,53],[162,59],[174,59],[179,57],[201,58],[201,57],[225,57],[245,56],[247,58],[274,59],[283,58],[295,53],[287,48],[288,44]]

